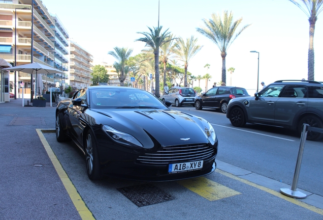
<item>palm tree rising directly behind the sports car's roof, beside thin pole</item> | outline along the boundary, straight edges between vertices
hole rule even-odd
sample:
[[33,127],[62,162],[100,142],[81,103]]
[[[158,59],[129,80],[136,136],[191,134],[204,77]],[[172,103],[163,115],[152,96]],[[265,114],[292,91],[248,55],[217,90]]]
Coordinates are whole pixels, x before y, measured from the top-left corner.
[[151,28],[148,27],[149,32],[137,32],[138,34],[142,34],[145,37],[139,38],[135,41],[142,41],[145,42],[146,45],[153,49],[154,58],[155,58],[155,95],[157,98],[159,98],[159,47],[163,46],[165,43],[171,41],[172,39],[169,38],[170,32],[168,32],[168,29],[161,33],[161,29],[163,26],[158,26],[157,28]]

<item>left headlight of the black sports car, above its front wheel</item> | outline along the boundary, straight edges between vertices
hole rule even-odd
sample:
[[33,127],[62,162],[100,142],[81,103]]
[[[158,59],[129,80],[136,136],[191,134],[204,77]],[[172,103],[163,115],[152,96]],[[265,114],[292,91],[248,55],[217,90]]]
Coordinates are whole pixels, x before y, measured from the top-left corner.
[[131,134],[118,131],[108,125],[102,126],[103,131],[117,143],[129,145],[132,147],[143,147],[143,145]]

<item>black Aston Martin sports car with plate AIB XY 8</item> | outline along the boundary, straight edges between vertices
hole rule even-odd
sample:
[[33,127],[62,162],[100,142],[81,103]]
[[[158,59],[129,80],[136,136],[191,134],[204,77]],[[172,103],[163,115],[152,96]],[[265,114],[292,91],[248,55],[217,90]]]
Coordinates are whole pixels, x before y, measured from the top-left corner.
[[72,139],[82,150],[91,180],[170,181],[212,173],[218,145],[212,125],[170,105],[135,88],[83,88],[57,105],[56,139]]

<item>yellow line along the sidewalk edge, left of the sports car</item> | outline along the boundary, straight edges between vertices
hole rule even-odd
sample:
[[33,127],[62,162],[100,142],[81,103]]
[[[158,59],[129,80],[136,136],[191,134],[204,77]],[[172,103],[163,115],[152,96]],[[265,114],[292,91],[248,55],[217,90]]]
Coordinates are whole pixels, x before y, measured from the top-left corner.
[[55,168],[60,180],[62,181],[64,187],[66,188],[66,190],[67,190],[76,210],[79,212],[79,215],[81,216],[81,218],[82,219],[89,219],[89,220],[95,219],[92,212],[87,208],[82,197],[77,192],[77,190],[76,190],[74,184],[72,183],[72,181],[70,180],[69,176],[62,168],[56,155],[54,154],[53,150],[51,149],[48,142],[46,141],[45,136],[42,133],[42,130],[36,129],[36,131],[38,133],[38,136],[39,136],[41,142],[43,143],[43,146],[44,146],[49,158],[51,159],[51,161],[54,165],[54,168]]

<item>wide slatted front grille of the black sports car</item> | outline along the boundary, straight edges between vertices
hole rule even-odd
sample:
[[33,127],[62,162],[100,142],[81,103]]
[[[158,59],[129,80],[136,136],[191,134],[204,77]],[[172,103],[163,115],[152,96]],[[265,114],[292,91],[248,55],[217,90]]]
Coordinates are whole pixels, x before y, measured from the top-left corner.
[[207,160],[214,157],[216,151],[208,145],[182,145],[170,146],[153,152],[146,153],[137,158],[137,161],[145,164],[165,165],[195,160]]

